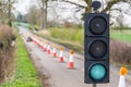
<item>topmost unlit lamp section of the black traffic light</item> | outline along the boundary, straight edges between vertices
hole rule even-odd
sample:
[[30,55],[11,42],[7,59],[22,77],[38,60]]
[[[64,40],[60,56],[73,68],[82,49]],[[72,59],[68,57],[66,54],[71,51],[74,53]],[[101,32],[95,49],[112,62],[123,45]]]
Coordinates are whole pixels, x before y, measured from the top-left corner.
[[[95,20],[95,21],[94,21]],[[95,27],[95,22],[98,22],[104,27],[102,33],[92,30]],[[90,25],[91,24],[91,25]],[[100,28],[99,27],[99,28]],[[86,36],[109,36],[109,15],[106,13],[88,13],[85,15],[85,35]],[[96,27],[97,28],[97,27]]]

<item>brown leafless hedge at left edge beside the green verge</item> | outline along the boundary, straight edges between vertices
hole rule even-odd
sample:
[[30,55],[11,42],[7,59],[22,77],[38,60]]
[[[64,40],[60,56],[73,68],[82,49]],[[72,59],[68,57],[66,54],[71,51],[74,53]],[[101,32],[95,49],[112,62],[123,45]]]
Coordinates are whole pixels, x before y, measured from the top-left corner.
[[13,75],[14,69],[14,47],[15,33],[9,26],[0,27],[0,84]]

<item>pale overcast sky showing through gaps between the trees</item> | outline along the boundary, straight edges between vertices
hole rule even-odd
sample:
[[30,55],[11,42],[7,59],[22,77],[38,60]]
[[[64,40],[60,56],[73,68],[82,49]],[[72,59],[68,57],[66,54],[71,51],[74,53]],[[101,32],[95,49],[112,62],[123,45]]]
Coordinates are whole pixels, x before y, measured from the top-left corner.
[[[71,0],[72,2],[76,2],[76,3],[79,3],[79,4],[84,4],[84,5],[86,5],[84,2],[82,2],[82,0]],[[15,3],[14,4],[14,8],[15,8],[15,10],[17,11],[17,12],[21,12],[22,14],[26,14],[27,13],[27,10],[29,9],[29,7],[31,5],[33,5],[33,4],[36,4],[36,0],[19,0],[19,2],[17,3]],[[58,7],[61,7],[62,4],[59,4]],[[68,5],[68,4],[67,4]],[[66,11],[63,11],[63,10],[61,10],[61,9],[59,9],[58,10],[58,14],[59,15],[61,15],[61,17],[60,18],[66,18],[66,17],[72,17],[73,16],[73,14],[72,14],[72,12],[74,12],[73,11],[73,5],[71,5],[71,4],[69,4],[68,7],[67,5],[64,5],[66,8],[68,8],[69,5],[69,10],[66,10]],[[17,13],[15,11],[15,14]],[[51,12],[51,10],[49,10],[50,12]],[[64,14],[64,16],[62,16]],[[76,14],[78,15],[78,17],[81,17],[81,13],[78,13]],[[50,15],[51,16],[51,15]],[[129,26],[131,26],[131,16],[128,16],[128,15],[124,15],[124,23],[126,24],[128,24]]]

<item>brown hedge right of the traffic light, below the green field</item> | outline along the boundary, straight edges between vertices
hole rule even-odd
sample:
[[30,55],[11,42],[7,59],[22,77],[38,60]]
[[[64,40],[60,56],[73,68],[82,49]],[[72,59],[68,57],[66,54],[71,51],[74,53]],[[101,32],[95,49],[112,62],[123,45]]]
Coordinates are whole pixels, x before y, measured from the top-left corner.
[[117,40],[110,42],[111,61],[120,64],[131,64],[131,45]]

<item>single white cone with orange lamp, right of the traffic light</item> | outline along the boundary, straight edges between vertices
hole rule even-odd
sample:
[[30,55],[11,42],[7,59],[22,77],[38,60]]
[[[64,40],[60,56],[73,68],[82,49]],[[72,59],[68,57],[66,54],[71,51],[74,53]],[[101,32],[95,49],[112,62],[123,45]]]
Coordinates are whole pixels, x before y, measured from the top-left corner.
[[120,80],[118,87],[126,87],[126,78],[124,76],[128,74],[128,69],[121,67],[120,69]]

